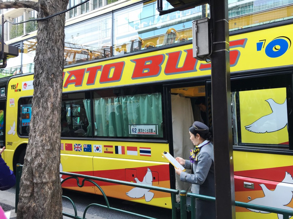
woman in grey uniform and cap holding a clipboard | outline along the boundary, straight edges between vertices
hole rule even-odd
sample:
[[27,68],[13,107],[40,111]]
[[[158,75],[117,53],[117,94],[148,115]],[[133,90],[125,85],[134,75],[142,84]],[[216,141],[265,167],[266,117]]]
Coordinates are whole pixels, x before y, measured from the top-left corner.
[[[211,140],[209,128],[195,121],[189,128],[190,140],[195,148],[190,150],[190,160],[176,157],[176,160],[191,173],[175,169],[180,175],[180,180],[192,183],[191,192],[215,197],[214,178],[214,147]],[[215,219],[216,205],[214,201],[196,199],[196,219]]]

